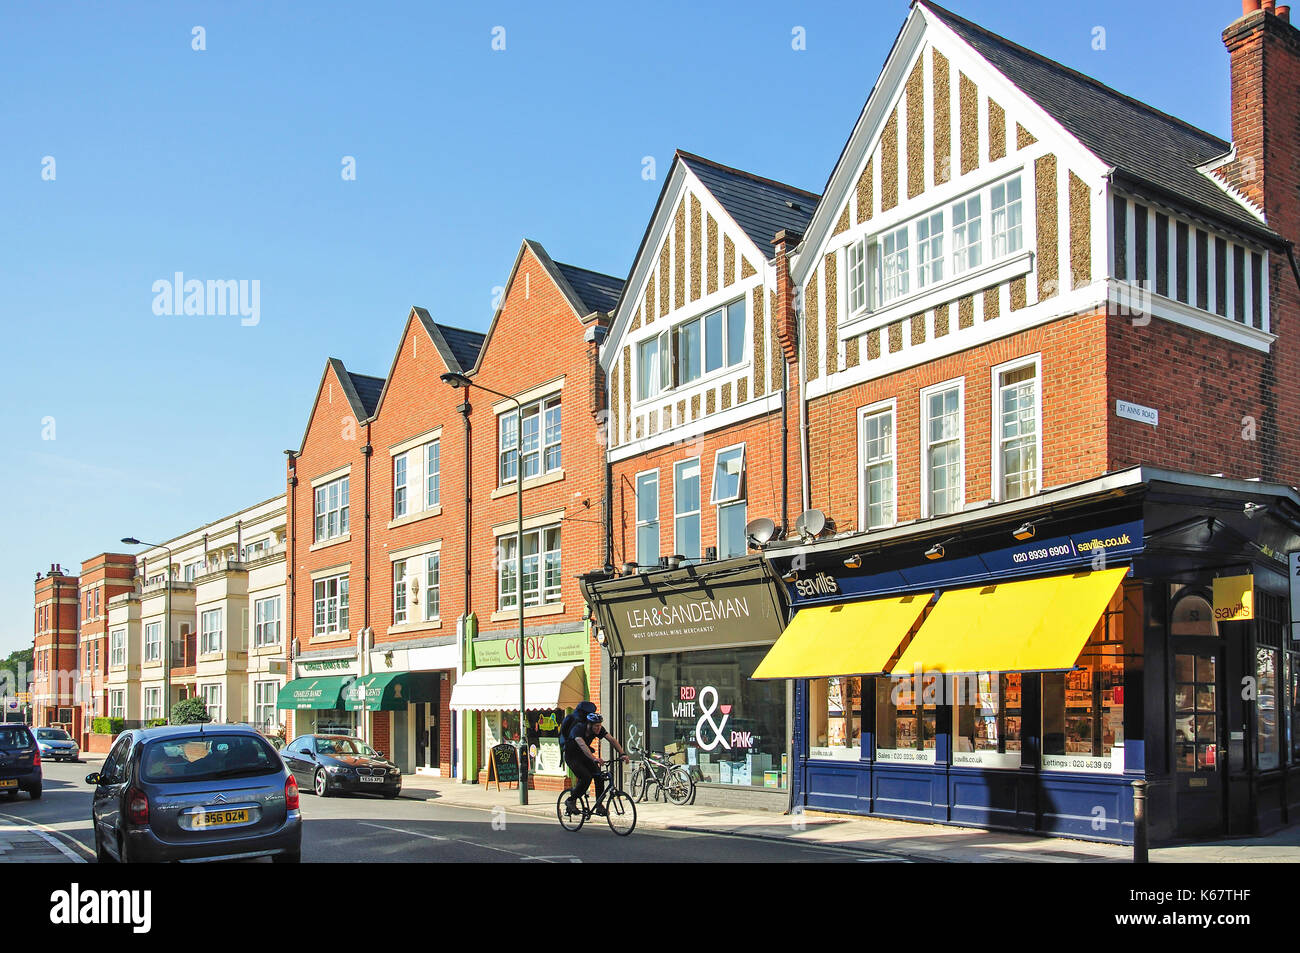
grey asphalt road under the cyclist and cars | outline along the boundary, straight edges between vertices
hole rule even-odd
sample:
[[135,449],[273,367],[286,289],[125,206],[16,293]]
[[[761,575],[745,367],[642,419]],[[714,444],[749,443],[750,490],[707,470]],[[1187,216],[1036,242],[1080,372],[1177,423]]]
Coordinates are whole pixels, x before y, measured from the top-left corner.
[[[44,763],[44,797],[0,798],[0,822],[32,826],[94,863],[90,826],[92,763]],[[827,863],[888,862],[890,855],[637,828],[628,837],[592,818],[577,833],[555,819],[504,811],[351,796],[303,793],[304,863]],[[595,823],[599,820],[599,823]]]

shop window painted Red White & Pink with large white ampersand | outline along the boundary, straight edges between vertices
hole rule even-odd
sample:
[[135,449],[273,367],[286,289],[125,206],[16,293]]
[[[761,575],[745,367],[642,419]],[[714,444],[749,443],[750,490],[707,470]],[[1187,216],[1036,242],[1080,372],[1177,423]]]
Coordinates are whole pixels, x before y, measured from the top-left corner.
[[767,647],[646,658],[646,746],[707,784],[785,788],[785,684],[750,676]]

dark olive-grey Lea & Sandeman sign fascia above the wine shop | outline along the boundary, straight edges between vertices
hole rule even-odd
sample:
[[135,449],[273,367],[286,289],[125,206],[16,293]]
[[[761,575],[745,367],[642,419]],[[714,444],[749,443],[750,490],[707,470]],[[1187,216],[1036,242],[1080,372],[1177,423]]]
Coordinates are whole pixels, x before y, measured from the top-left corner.
[[760,558],[584,584],[615,654],[766,645],[781,633],[779,582]]

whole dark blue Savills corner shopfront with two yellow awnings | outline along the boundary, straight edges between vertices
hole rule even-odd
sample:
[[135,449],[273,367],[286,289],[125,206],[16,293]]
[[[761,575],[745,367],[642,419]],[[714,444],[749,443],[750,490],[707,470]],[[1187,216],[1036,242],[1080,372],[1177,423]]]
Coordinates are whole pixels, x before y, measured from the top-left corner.
[[1131,842],[1300,814],[1291,488],[1134,468],[770,546],[807,809]]

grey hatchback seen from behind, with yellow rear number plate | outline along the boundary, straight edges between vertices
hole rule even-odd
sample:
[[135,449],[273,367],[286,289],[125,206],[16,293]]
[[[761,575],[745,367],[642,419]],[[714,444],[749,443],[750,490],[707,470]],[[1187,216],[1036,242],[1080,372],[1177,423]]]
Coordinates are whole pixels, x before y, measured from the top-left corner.
[[95,785],[99,861],[302,859],[298,781],[276,749],[242,725],[124,732]]

